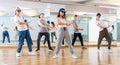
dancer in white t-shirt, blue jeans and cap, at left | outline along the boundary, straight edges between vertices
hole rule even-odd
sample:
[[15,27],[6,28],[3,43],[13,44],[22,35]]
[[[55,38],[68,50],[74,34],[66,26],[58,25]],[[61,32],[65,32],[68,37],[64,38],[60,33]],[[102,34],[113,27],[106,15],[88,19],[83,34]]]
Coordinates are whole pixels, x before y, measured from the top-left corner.
[[24,43],[24,39],[26,39],[26,41],[27,41],[27,45],[28,45],[28,49],[29,49],[28,54],[35,55],[32,52],[32,43],[31,43],[31,41],[29,41],[29,40],[31,40],[31,37],[30,37],[30,33],[29,33],[27,25],[30,22],[24,22],[23,17],[20,16],[20,13],[21,13],[21,9],[17,8],[15,10],[15,16],[14,16],[14,21],[16,23],[16,26],[18,29],[18,36],[19,36],[19,40],[18,40],[19,43],[18,43],[16,56],[17,57],[20,56],[20,52],[21,52],[21,49],[22,49],[22,46]]

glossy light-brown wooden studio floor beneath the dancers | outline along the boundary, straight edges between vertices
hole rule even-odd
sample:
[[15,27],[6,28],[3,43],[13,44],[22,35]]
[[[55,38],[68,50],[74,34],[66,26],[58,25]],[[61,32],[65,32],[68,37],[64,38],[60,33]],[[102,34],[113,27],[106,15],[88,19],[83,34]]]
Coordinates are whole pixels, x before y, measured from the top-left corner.
[[[33,48],[35,50],[36,48]],[[102,47],[99,53],[96,47],[82,50],[74,47],[78,59],[72,59],[68,47],[61,48],[59,58],[53,59],[54,52],[41,48],[36,56],[29,56],[28,49],[23,48],[21,57],[16,57],[16,48],[0,48],[0,65],[120,65],[120,48],[112,47],[108,52],[107,47]]]

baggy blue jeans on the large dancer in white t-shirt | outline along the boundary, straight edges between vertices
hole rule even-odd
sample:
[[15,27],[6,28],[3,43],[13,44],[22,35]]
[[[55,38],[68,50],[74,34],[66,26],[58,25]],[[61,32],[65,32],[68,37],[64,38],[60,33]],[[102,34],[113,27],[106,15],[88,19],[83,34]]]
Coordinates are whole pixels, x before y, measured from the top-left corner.
[[31,36],[29,33],[29,30],[25,30],[25,31],[18,31],[18,36],[19,36],[19,44],[18,44],[18,48],[17,48],[17,52],[20,53],[23,43],[24,43],[24,39],[26,39],[27,41],[27,45],[28,45],[28,49],[29,52],[32,52],[32,42],[31,42]]

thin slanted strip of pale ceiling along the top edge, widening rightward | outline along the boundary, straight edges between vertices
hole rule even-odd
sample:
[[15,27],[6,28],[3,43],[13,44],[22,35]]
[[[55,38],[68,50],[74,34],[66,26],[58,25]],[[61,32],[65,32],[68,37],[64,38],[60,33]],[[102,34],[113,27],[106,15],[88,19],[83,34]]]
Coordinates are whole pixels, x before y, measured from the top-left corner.
[[65,5],[88,5],[114,9],[120,7],[119,0],[23,0],[23,1],[45,2]]

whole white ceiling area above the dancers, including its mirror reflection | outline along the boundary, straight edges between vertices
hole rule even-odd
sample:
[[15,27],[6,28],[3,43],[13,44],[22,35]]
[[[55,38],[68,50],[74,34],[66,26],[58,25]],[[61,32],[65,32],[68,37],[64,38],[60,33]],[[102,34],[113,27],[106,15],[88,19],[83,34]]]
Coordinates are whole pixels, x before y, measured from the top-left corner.
[[[119,5],[111,4],[108,2],[111,0],[0,0],[0,11],[7,12],[8,15],[14,15],[16,7],[21,9],[32,9],[37,12],[57,12],[60,7],[66,8],[67,12],[101,12],[109,13],[109,10],[112,12],[112,9],[108,7],[119,7]],[[116,1],[116,0],[115,0]],[[101,6],[101,7],[100,7]],[[48,14],[48,13],[47,13]]]

